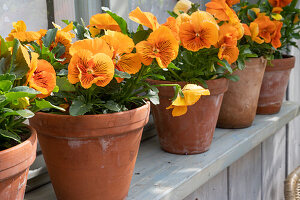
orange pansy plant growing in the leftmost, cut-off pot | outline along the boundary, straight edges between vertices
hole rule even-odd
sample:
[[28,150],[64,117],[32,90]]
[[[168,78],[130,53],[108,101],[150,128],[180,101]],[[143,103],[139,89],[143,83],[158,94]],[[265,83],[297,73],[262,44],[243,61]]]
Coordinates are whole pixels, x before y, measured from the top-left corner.
[[[16,24],[16,30],[20,30]],[[20,41],[38,35],[34,32],[23,35],[18,31],[16,34]],[[38,59],[38,54],[28,52],[16,37],[9,41],[0,37],[0,151],[30,136],[23,122],[35,112],[51,108],[63,110],[43,99],[56,86],[53,67]]]

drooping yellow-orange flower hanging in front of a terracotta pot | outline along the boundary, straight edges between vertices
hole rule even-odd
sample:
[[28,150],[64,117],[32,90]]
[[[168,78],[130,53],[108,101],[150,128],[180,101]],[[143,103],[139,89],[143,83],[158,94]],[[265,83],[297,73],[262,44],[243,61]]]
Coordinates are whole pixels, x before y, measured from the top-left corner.
[[182,93],[184,97],[179,94],[172,104],[166,109],[173,109],[172,116],[177,117],[184,115],[187,112],[187,107],[194,105],[202,95],[210,95],[208,89],[204,89],[201,86],[195,84],[187,84],[183,87]]

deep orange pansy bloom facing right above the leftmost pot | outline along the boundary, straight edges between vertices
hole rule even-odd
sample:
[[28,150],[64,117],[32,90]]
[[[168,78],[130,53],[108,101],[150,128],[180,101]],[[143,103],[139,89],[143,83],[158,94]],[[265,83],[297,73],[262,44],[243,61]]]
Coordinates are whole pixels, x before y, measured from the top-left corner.
[[32,53],[31,68],[27,75],[29,87],[40,91],[37,97],[45,98],[56,86],[56,73],[53,66],[46,60],[38,60],[38,55]]

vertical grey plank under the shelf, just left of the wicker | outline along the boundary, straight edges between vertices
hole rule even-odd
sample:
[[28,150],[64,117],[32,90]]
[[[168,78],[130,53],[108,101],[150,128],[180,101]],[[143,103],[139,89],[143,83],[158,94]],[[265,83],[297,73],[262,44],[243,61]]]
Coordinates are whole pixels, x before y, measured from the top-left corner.
[[286,129],[262,143],[262,192],[263,199],[284,199],[286,155]]

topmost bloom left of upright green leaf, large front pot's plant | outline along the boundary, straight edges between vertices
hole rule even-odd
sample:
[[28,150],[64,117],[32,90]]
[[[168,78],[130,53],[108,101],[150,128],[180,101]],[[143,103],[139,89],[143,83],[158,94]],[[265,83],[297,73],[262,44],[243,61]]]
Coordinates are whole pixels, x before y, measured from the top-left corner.
[[88,27],[96,27],[97,29],[121,31],[119,24],[107,13],[99,13],[93,15],[90,19]]

